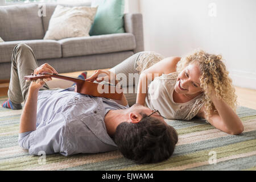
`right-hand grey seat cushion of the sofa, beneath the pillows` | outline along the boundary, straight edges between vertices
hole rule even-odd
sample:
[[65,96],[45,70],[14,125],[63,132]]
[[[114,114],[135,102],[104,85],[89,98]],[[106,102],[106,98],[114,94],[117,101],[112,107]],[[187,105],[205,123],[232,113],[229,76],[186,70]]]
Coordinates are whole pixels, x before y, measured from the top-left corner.
[[59,40],[63,57],[130,51],[136,47],[133,34],[108,34]]

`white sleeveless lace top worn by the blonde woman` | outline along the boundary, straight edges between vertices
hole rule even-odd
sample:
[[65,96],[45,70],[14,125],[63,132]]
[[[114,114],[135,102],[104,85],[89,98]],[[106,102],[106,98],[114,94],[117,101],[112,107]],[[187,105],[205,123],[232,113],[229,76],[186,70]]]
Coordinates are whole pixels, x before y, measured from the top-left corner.
[[148,86],[148,94],[145,106],[159,110],[167,119],[190,120],[196,116],[203,106],[201,94],[191,101],[176,103],[173,99],[174,86],[177,80],[177,72],[155,77]]

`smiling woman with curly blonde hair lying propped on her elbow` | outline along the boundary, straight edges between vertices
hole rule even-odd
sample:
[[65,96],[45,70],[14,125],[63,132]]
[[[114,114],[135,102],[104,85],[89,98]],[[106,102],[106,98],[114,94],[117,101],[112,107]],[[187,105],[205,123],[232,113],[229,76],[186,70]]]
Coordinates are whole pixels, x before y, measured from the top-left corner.
[[118,80],[126,76],[119,83],[123,89],[127,88],[125,96],[130,106],[135,103],[147,106],[167,119],[205,118],[229,134],[243,131],[236,114],[235,89],[221,55],[197,50],[184,57],[164,59],[159,53],[143,51],[110,72]]

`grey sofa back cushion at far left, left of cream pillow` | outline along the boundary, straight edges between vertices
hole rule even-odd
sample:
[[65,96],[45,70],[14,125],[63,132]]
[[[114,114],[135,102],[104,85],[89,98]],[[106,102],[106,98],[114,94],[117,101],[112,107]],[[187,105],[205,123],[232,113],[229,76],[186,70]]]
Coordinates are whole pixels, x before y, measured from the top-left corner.
[[38,15],[38,5],[0,7],[0,35],[5,41],[43,39],[43,24]]

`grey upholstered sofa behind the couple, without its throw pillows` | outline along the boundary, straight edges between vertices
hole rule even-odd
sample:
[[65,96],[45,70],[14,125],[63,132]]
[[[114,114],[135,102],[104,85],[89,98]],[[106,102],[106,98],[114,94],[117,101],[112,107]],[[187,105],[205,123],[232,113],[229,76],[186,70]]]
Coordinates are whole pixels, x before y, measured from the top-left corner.
[[49,63],[59,73],[111,68],[144,49],[142,14],[125,14],[122,34],[56,41],[43,40],[56,4],[46,3],[45,7],[46,16],[39,15],[38,4],[0,7],[0,37],[5,41],[0,43],[0,80],[10,78],[11,54],[19,43],[33,49],[39,65]]

